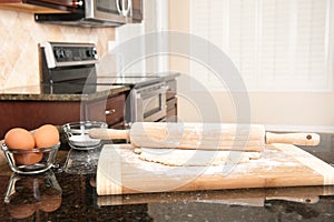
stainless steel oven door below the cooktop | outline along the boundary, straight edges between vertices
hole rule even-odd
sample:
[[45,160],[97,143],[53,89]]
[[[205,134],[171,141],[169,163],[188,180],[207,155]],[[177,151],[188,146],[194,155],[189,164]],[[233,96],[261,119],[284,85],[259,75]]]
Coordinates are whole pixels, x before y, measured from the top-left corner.
[[158,122],[166,120],[167,105],[165,82],[132,89],[128,122]]

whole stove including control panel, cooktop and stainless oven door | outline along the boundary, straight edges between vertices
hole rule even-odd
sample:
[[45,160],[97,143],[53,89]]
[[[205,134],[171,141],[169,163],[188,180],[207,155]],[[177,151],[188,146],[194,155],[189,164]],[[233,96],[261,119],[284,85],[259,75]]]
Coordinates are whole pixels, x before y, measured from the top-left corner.
[[97,77],[98,56],[92,43],[43,42],[40,44],[43,93],[95,93],[112,85],[129,85],[126,122],[166,121],[165,79],[128,74]]

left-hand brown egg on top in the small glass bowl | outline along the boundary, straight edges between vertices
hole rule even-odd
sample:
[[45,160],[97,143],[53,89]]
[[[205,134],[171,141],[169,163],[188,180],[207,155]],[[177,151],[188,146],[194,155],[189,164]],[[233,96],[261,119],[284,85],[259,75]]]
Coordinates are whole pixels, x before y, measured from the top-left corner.
[[4,143],[10,149],[35,148],[33,135],[22,128],[13,128],[9,130],[4,135]]

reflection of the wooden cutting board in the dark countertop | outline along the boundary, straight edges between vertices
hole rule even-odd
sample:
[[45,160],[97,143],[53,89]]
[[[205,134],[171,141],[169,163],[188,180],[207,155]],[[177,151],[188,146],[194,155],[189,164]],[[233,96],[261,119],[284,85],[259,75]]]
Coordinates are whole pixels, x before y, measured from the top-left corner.
[[175,203],[175,202],[206,202],[233,205],[264,206],[266,200],[284,200],[299,203],[317,203],[320,196],[333,195],[334,186],[295,186],[267,189],[236,189],[215,191],[185,191],[168,193],[137,193],[124,195],[100,195],[97,204],[126,205],[143,203]]

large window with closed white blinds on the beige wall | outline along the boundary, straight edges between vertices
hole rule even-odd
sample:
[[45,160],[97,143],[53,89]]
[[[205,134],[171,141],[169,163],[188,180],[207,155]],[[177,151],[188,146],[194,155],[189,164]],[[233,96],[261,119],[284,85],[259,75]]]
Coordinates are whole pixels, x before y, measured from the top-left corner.
[[[191,0],[190,32],[219,47],[249,91],[327,91],[331,7],[331,0]],[[224,88],[195,61],[190,72],[210,89]]]

